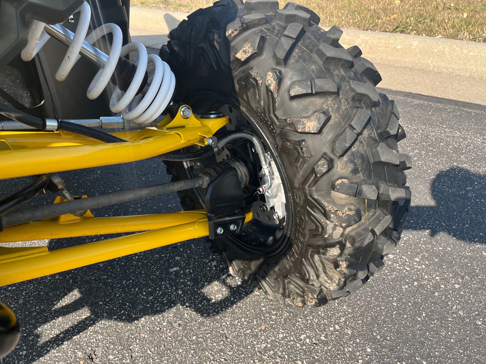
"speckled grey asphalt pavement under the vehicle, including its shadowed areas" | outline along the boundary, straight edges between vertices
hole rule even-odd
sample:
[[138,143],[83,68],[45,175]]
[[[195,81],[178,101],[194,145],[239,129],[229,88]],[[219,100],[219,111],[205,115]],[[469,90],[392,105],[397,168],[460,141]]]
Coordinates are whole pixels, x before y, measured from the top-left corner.
[[[287,307],[230,277],[195,239],[1,287],[23,327],[3,362],[486,363],[486,107],[388,94],[407,133],[400,152],[414,158],[413,207],[384,270],[355,294]],[[155,159],[62,177],[88,196],[169,180]],[[26,181],[2,182],[2,195]],[[179,209],[166,195],[94,214]]]

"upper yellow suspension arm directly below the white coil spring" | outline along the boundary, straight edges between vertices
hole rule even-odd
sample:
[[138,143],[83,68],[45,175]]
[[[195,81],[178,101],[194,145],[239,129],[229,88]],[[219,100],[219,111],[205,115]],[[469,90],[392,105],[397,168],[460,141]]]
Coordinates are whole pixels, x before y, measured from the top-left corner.
[[[158,129],[113,133],[128,140],[124,143],[105,144],[66,132],[0,132],[0,142],[9,148],[0,149],[0,179],[139,161],[204,144],[206,138],[228,122],[227,116],[215,119],[191,116],[182,121],[179,118],[165,121],[166,125],[159,124]],[[181,127],[183,122],[185,126]]]

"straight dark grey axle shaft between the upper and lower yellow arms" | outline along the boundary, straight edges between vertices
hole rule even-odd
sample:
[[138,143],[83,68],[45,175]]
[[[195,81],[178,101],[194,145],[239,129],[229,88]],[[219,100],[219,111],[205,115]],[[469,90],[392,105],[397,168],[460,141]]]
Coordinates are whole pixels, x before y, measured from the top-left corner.
[[72,201],[54,203],[52,205],[31,207],[0,216],[0,226],[3,228],[6,226],[23,224],[29,221],[65,215],[77,211],[114,205],[121,202],[145,199],[147,197],[158,196],[196,187],[204,187],[207,186],[208,183],[209,177],[207,175],[201,175],[188,180],[157,184],[150,187],[140,187],[127,191],[117,191],[108,193],[106,195],[93,196],[86,199],[75,199]]

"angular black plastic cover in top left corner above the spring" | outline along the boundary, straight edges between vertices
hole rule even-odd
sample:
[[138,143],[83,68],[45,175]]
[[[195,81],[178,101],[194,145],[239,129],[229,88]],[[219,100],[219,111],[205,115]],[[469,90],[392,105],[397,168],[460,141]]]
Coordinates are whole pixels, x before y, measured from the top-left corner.
[[64,22],[84,0],[0,0],[0,67],[27,45],[27,23]]

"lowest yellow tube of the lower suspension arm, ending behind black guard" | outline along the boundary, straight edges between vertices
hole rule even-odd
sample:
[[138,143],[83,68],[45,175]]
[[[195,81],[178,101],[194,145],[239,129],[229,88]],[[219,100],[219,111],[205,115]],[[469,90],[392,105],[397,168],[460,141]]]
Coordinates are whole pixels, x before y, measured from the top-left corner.
[[[47,247],[0,247],[0,286],[208,235],[207,216],[201,211],[189,214],[193,221],[184,224],[52,251]],[[251,211],[248,212],[245,223],[252,217]]]

